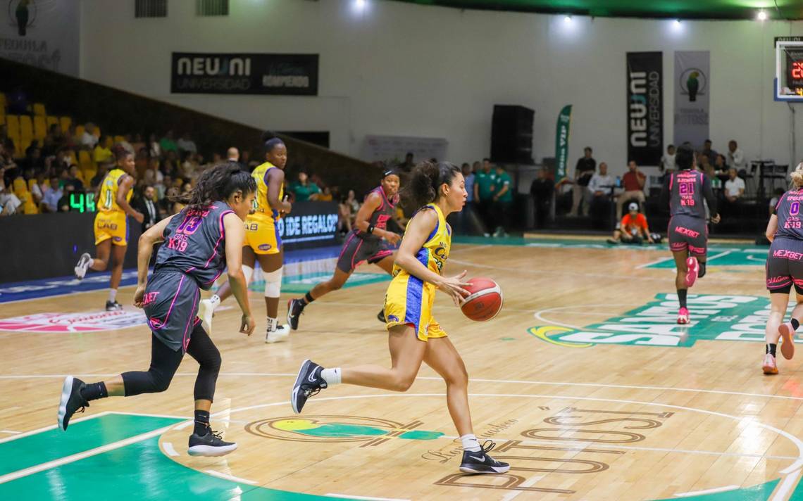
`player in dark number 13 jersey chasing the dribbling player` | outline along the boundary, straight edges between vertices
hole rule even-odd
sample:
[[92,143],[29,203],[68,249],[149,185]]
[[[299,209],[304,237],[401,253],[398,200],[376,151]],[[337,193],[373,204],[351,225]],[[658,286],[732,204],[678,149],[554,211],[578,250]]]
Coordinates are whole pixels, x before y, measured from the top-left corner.
[[[234,297],[243,310],[240,332],[251,335],[254,321],[241,259],[243,220],[256,191],[254,180],[237,164],[219,164],[204,172],[181,212],[142,234],[137,255],[138,284],[134,305],[144,308],[151,328],[151,363],[147,372],[124,372],[105,382],[85,384],[67,376],[59,403],[59,428],[67,430],[75,412],[105,397],[131,397],[167,390],[184,353],[198,361],[195,379],[195,428],[190,455],[219,456],[237,448],[211,430],[210,408],[220,370],[220,352],[195,317],[201,289],[209,289],[228,267]],[[153,244],[159,248],[153,275],[148,263]],[[147,281],[147,285],[146,285]]]

